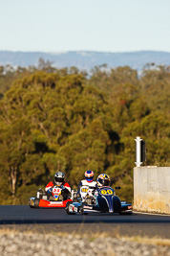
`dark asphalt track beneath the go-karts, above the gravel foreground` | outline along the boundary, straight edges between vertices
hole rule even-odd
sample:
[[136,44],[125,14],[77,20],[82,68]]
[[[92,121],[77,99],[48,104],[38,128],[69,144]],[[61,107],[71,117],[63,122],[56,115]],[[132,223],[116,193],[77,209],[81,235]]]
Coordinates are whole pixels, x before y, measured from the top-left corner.
[[28,205],[0,205],[0,228],[37,232],[106,233],[170,239],[170,216],[89,214],[67,215],[65,209],[32,209]]

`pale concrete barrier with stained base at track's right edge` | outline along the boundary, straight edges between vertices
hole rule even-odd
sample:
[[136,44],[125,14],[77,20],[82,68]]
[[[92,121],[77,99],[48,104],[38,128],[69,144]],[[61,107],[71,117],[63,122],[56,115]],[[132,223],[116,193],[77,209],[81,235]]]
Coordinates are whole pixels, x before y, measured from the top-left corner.
[[170,167],[134,168],[134,210],[170,214]]

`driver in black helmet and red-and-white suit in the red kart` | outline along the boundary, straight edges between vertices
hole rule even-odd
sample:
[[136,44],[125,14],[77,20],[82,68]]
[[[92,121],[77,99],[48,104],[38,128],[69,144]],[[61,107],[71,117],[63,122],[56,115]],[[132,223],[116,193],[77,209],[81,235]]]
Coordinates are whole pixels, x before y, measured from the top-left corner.
[[65,182],[65,175],[62,172],[57,172],[54,175],[53,181],[49,182],[45,188],[45,191],[47,192],[48,198],[50,198],[50,200],[57,199],[55,198],[56,196],[52,195],[53,187],[61,189],[63,200],[66,200],[71,193],[71,187],[68,183]]

